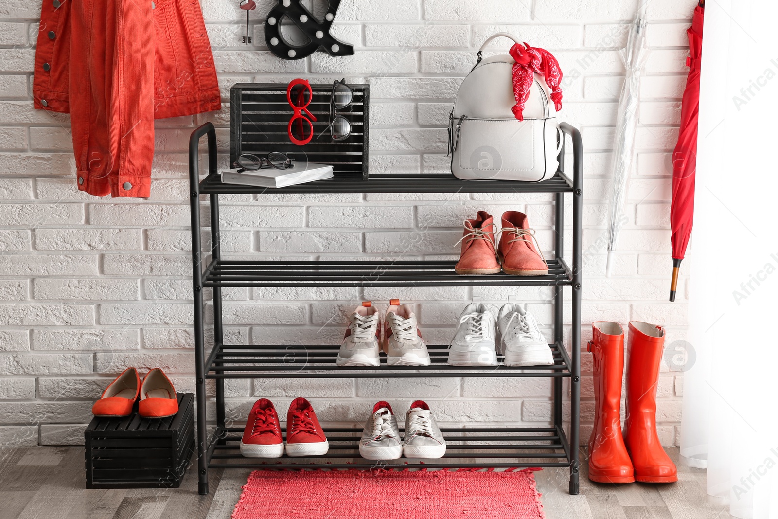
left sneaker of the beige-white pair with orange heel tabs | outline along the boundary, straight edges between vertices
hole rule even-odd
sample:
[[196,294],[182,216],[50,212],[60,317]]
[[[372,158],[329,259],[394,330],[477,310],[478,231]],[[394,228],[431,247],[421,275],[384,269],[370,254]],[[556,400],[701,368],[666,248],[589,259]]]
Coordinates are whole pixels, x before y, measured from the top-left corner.
[[338,351],[338,366],[380,366],[378,310],[370,301],[363,301],[349,320],[349,328]]

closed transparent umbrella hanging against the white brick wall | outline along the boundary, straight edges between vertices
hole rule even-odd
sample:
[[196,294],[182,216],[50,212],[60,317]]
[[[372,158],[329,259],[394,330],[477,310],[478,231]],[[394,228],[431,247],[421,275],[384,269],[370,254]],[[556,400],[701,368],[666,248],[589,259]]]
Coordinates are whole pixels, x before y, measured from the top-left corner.
[[635,16],[629,29],[627,46],[622,51],[626,67],[626,79],[619,98],[619,114],[616,117],[613,140],[613,174],[611,177],[611,199],[608,207],[608,263],[605,275],[610,277],[615,262],[615,247],[619,231],[626,222],[624,203],[627,195],[627,181],[632,170],[635,151],[635,133],[638,121],[640,99],[640,75],[646,62],[646,18],[645,7]]

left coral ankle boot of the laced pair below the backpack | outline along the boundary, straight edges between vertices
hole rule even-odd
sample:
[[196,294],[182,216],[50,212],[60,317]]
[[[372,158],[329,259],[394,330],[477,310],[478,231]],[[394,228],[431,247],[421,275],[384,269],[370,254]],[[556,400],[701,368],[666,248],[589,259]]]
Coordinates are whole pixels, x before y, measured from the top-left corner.
[[488,212],[478,211],[475,219],[464,220],[462,233],[462,251],[454,266],[457,274],[481,275],[499,272],[497,261],[496,233],[497,225]]

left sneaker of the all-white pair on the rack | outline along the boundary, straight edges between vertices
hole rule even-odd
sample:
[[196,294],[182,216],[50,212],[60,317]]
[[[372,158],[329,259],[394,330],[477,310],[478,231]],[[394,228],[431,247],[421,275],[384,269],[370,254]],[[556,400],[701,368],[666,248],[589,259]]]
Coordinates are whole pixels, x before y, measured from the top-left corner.
[[459,326],[448,350],[450,366],[496,366],[496,324],[482,304],[471,303],[459,316]]

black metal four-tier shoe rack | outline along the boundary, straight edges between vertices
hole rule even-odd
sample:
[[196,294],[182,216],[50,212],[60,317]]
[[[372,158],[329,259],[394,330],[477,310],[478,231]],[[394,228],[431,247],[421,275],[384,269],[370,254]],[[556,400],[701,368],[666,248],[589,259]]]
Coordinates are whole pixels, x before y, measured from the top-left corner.
[[[513,468],[567,467],[569,493],[578,493],[579,401],[580,401],[580,319],[581,319],[581,220],[583,167],[580,133],[562,123],[560,128],[573,142],[573,177],[564,173],[560,153],[559,171],[542,182],[460,181],[450,174],[386,174],[369,180],[362,177],[335,177],[326,181],[272,190],[274,193],[536,193],[555,194],[555,254],[548,261],[548,274],[457,275],[455,261],[229,261],[219,247],[219,195],[267,193],[251,186],[222,184],[216,167],[216,131],[205,123],[191,135],[189,174],[191,182],[192,277],[195,293],[195,369],[197,377],[197,430],[199,491],[208,493],[209,468],[375,468],[375,461],[359,457],[360,428],[325,429],[330,450],[314,458],[243,458],[239,451],[241,428],[225,423],[224,379],[226,378],[359,378],[359,377],[552,377],[553,407],[546,427],[465,427],[444,428],[448,448],[440,460],[397,460],[380,468]],[[208,136],[209,174],[200,181],[198,146]],[[563,258],[563,203],[565,194],[573,197],[572,265]],[[200,242],[200,195],[209,195],[210,257]],[[430,346],[430,366],[377,368],[337,367],[338,345],[230,345],[223,342],[223,287],[282,286],[553,286],[554,342],[552,366],[457,367],[447,364],[447,346]],[[562,290],[572,290],[571,352],[562,345]],[[215,345],[205,351],[203,289],[213,290],[213,331]],[[216,430],[209,435],[206,423],[205,380],[216,380]],[[570,421],[565,431],[562,419],[564,395],[562,379],[570,379]],[[499,395],[496,395],[499,396]],[[318,464],[318,465],[311,465]],[[325,465],[326,464],[326,465]]]

